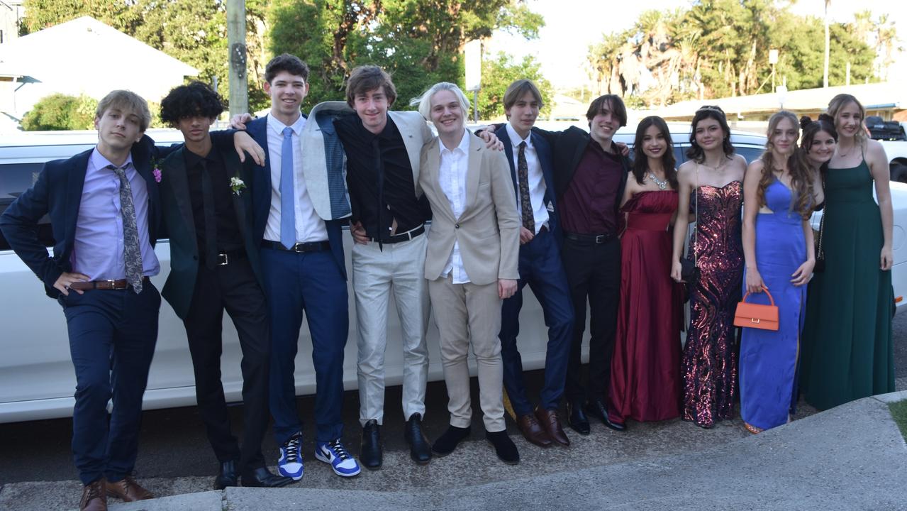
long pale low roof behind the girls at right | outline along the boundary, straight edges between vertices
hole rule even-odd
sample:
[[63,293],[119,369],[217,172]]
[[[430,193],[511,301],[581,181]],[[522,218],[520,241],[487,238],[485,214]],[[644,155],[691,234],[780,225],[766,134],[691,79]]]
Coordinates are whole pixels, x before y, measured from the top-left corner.
[[[839,93],[856,96],[866,110],[907,109],[907,89],[903,84],[883,82],[881,84],[856,84],[836,87],[787,91],[784,94],[784,108],[793,112],[824,112],[828,102]],[[736,114],[766,114],[777,112],[781,107],[778,93],[754,94],[709,100],[690,100],[658,108],[655,114],[665,119],[689,120],[704,104],[717,104],[727,113],[728,119]]]

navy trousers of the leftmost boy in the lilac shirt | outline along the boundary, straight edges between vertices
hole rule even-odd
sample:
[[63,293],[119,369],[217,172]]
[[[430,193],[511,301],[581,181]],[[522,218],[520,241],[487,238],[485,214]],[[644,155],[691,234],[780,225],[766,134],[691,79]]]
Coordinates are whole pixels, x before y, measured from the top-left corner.
[[81,295],[71,290],[59,302],[75,369],[75,467],[85,485],[101,477],[119,481],[135,466],[161,294],[146,280],[140,294],[132,287]]

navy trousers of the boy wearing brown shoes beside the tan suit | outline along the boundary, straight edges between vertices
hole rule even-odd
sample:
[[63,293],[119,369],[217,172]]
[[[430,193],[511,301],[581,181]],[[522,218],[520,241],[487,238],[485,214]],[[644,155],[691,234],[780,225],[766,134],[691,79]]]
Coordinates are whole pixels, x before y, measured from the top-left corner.
[[551,232],[543,230],[532,241],[520,247],[520,280],[516,293],[503,300],[501,308],[501,357],[504,364],[504,388],[517,416],[532,413],[522,378],[522,359],[517,349],[520,333],[522,289],[529,284],[541,304],[548,346],[545,351],[545,383],[539,395],[539,406],[556,410],[564,392],[567,364],[570,360],[573,331],[573,304],[567,274],[561,263],[561,252]]

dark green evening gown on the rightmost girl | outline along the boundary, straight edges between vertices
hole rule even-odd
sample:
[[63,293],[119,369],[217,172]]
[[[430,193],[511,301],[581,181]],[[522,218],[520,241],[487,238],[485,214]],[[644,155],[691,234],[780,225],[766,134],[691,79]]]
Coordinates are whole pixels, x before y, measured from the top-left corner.
[[820,410],[894,391],[892,272],[865,161],[825,177],[825,270],[809,283],[800,384]]

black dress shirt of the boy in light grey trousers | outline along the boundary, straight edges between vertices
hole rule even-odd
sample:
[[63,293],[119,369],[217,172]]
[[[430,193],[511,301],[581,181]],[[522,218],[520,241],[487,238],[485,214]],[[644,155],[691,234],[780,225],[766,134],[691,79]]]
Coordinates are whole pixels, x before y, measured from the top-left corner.
[[361,221],[369,237],[387,241],[395,220],[395,232],[401,233],[432,217],[425,196],[415,196],[413,167],[403,135],[390,117],[376,135],[366,130],[355,113],[336,119],[334,127],[346,152],[351,221]]

